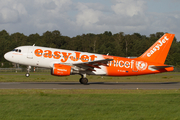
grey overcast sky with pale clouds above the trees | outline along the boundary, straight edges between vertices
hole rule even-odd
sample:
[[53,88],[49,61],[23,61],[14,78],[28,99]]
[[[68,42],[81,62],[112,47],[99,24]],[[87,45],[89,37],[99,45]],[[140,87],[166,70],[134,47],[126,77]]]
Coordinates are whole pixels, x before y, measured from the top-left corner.
[[0,0],[0,31],[25,35],[156,32],[180,41],[180,0]]

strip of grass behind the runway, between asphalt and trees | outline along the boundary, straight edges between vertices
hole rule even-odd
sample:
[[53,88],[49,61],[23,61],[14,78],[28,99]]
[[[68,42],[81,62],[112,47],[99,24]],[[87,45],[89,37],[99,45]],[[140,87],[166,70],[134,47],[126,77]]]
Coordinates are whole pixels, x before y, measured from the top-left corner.
[[[0,82],[78,82],[80,75],[66,77],[52,76],[50,73],[31,73],[25,77],[25,73],[0,73]],[[87,76],[89,82],[180,82],[180,73],[170,72],[143,76],[108,77]]]

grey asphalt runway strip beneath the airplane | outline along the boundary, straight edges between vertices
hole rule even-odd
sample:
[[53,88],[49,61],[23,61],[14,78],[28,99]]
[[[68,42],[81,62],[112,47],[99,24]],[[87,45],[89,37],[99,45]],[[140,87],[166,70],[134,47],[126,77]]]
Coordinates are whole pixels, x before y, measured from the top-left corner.
[[90,82],[2,82],[0,89],[180,89],[180,82],[115,83]]

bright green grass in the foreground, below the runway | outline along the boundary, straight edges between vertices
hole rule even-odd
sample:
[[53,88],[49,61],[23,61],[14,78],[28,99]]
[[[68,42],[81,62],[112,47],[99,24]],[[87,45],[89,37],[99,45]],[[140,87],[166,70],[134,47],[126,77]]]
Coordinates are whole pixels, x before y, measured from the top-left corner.
[[1,120],[179,120],[180,90],[0,90]]

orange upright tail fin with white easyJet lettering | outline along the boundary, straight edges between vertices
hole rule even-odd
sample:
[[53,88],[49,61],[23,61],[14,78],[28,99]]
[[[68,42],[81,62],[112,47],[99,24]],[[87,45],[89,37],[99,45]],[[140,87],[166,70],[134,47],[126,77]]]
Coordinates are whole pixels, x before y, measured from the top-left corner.
[[164,34],[139,59],[164,64],[175,34]]

